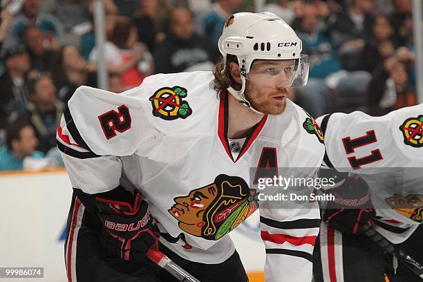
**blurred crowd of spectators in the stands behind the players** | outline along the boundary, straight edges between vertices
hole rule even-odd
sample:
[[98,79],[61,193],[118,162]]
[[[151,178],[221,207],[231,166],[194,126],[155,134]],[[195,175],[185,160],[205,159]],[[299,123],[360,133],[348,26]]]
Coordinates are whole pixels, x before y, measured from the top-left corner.
[[[154,73],[211,71],[242,0],[103,0],[109,91]],[[2,0],[0,170],[63,166],[55,135],[77,87],[97,86],[93,1]],[[411,0],[276,0],[303,41],[310,77],[290,98],[319,116],[384,115],[416,103]],[[420,30],[420,32],[422,32]]]

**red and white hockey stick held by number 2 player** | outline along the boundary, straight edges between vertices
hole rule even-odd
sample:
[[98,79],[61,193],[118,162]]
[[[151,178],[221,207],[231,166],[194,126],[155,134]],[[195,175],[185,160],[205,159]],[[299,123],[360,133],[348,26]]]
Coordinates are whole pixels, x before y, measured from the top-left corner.
[[147,252],[147,257],[156,263],[158,266],[162,267],[164,270],[167,270],[173,277],[182,282],[200,282],[194,276],[185,271],[182,267],[174,263],[169,259],[165,254],[160,252],[157,249],[149,249]]

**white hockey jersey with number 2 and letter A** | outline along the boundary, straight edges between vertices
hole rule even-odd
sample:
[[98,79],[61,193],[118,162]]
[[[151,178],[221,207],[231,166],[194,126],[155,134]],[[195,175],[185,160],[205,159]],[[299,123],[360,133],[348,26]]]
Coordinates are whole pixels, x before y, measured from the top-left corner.
[[[79,87],[57,131],[73,187],[95,194],[129,182],[149,202],[160,243],[200,263],[229,258],[226,234],[257,209],[251,167],[314,167],[314,176],[324,156],[314,120],[290,100],[229,144],[227,93],[218,99],[212,79],[153,75],[119,95]],[[318,204],[261,208],[260,218],[266,281],[310,282]]]

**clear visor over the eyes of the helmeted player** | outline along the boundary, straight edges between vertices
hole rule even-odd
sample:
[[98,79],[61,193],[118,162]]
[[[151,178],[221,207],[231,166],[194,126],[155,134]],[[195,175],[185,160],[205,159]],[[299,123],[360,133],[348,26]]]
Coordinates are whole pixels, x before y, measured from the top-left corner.
[[262,87],[303,87],[307,84],[309,69],[308,55],[301,55],[299,59],[256,60],[246,78]]

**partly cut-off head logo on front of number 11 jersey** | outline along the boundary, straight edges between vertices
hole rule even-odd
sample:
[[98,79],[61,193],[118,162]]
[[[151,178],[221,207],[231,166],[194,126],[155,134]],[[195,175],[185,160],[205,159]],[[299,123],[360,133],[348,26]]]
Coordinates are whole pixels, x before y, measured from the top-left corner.
[[423,223],[423,195],[402,196],[394,194],[391,198],[386,199],[386,203],[395,209],[398,214],[417,221],[417,223]]

